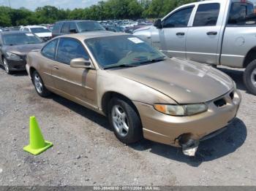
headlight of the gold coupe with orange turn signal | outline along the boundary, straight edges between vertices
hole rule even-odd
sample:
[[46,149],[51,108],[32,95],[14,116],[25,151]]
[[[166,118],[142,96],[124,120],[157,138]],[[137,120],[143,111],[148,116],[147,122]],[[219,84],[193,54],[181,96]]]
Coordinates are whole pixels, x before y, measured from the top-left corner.
[[163,114],[173,116],[189,116],[206,112],[208,109],[206,104],[187,104],[187,105],[166,105],[154,104],[154,109]]

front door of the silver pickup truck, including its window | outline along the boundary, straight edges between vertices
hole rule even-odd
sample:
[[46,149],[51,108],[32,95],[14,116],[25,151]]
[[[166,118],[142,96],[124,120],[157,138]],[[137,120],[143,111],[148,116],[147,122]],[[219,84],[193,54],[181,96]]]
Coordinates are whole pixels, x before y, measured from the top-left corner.
[[186,58],[186,36],[194,6],[183,7],[162,20],[159,39],[162,52],[170,57]]

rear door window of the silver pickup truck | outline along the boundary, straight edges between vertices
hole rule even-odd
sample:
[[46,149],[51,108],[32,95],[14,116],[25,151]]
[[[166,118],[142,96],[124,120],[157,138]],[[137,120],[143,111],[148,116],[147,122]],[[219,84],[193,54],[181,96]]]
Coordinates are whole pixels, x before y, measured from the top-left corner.
[[219,4],[200,4],[193,26],[216,26],[219,17]]

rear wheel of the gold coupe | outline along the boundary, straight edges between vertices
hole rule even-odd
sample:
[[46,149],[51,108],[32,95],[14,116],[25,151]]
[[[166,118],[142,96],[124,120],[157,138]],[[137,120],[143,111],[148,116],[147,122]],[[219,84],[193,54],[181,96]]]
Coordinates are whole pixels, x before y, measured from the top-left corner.
[[48,95],[50,95],[50,91],[47,90],[47,88],[45,87],[44,83],[42,82],[42,78],[37,71],[34,71],[32,77],[34,88],[36,89],[38,95],[40,95],[41,97],[47,97]]

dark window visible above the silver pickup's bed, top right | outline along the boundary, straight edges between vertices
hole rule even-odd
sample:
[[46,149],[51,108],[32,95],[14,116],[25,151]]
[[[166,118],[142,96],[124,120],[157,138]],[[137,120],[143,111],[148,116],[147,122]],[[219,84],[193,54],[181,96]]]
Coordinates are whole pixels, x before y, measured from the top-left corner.
[[249,3],[233,3],[227,24],[230,26],[244,26],[255,24],[254,6]]

